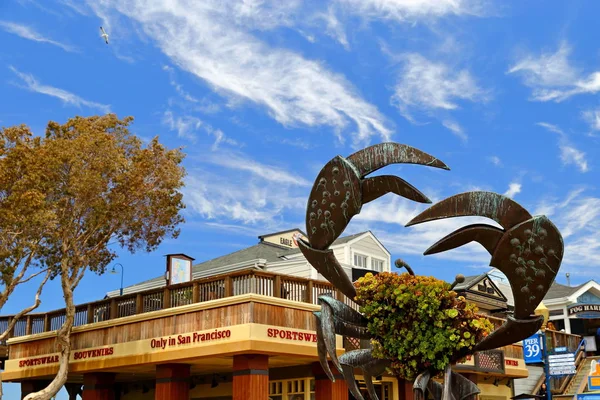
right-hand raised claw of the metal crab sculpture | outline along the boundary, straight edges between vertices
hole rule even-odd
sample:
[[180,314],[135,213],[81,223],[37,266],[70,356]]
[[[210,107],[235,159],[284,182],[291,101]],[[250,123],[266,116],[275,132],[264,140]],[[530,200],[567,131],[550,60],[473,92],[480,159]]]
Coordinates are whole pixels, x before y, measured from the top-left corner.
[[[443,218],[481,216],[503,229],[475,224],[450,233],[425,254],[478,242],[492,255],[490,265],[502,271],[515,298],[514,318],[480,343],[478,350],[502,347],[522,340],[539,329],[533,316],[560,268],[564,245],[558,228],[546,217],[535,216],[514,200],[492,192],[461,193],[431,206],[406,226]],[[490,347],[491,346],[491,347]]]

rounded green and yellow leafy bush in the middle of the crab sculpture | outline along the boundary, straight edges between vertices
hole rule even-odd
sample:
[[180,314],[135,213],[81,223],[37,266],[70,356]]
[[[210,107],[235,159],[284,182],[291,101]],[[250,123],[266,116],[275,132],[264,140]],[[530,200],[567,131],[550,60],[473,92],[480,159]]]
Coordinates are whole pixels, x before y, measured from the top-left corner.
[[391,359],[392,371],[412,381],[429,370],[434,375],[472,349],[492,330],[477,307],[433,277],[408,273],[371,273],[356,283],[360,311],[369,320],[373,354]]

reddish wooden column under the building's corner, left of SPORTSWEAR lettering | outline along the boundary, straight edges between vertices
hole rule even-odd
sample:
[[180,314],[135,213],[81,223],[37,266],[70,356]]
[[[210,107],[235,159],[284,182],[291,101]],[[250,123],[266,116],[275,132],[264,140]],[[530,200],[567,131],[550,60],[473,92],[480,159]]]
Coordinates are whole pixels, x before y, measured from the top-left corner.
[[269,357],[243,354],[233,357],[233,400],[269,398]]

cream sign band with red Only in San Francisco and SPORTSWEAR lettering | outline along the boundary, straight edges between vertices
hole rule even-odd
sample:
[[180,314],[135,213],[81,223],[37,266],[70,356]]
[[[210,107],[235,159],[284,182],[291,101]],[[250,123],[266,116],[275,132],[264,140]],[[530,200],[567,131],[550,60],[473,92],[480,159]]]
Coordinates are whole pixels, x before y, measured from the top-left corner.
[[[285,344],[285,346],[277,345]],[[337,337],[338,352],[343,342]],[[134,366],[218,357],[244,351],[317,357],[317,335],[314,331],[275,327],[261,324],[234,325],[227,328],[181,333],[164,337],[114,343],[97,348],[76,349],[71,352],[71,371]],[[39,354],[5,362],[3,380],[47,374],[58,368],[59,354]],[[51,372],[50,372],[51,373]]]

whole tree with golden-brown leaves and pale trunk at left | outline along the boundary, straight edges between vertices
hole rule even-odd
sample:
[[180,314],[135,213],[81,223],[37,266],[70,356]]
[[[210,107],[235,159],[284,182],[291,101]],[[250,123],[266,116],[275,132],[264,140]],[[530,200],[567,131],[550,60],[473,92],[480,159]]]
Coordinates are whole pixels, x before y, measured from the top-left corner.
[[0,307],[36,274],[44,279],[21,315],[39,305],[48,279],[60,279],[66,307],[58,373],[26,400],[48,400],[67,380],[73,291],[86,271],[102,274],[119,247],[150,252],[179,234],[183,154],[158,138],[144,146],[132,121],[75,117],[50,122],[44,137],[25,126],[0,131]]

